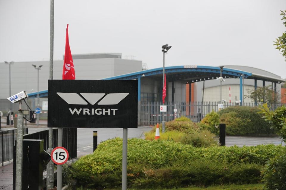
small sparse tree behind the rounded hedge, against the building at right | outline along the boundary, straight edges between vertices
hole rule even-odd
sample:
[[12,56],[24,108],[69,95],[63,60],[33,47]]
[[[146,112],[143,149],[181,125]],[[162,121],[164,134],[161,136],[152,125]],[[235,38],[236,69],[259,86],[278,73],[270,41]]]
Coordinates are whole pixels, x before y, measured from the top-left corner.
[[255,102],[275,104],[279,100],[279,94],[270,88],[271,86],[258,87],[255,91],[254,89],[246,89],[249,95],[245,95],[245,98],[250,98]]

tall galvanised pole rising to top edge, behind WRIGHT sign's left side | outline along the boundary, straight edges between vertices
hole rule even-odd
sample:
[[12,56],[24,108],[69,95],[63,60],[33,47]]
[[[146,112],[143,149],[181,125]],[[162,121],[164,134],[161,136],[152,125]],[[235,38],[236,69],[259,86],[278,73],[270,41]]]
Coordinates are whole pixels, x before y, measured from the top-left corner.
[[[50,8],[50,80],[54,79],[54,0]],[[53,128],[49,127],[48,153],[53,150]],[[47,189],[54,187],[54,163],[52,160],[47,165]]]

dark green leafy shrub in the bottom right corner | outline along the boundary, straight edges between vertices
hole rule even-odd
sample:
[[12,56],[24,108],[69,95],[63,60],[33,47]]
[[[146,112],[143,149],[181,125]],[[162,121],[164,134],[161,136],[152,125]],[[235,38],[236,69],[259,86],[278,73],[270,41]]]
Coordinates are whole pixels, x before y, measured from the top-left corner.
[[274,158],[271,158],[262,170],[263,182],[268,189],[286,189],[286,151],[285,148]]

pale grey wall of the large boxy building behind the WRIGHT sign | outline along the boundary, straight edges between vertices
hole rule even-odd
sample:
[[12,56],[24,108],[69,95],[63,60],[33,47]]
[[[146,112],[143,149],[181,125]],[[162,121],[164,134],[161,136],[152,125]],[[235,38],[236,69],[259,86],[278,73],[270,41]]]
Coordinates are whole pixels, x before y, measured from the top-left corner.
[[[15,62],[11,65],[11,95],[20,91],[37,92],[37,70],[39,91],[48,89],[49,61]],[[142,61],[119,58],[74,59],[76,79],[95,80],[142,70]],[[63,60],[54,61],[54,79],[62,79]],[[33,90],[32,90],[33,89]],[[9,97],[9,65],[0,63],[0,99]]]

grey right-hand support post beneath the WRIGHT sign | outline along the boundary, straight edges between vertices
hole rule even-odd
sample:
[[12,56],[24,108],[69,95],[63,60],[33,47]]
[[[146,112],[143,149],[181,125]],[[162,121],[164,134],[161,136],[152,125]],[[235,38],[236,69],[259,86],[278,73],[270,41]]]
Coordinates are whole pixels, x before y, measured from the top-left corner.
[[122,142],[122,190],[127,189],[127,128],[123,128]]

